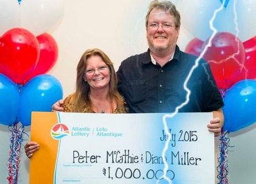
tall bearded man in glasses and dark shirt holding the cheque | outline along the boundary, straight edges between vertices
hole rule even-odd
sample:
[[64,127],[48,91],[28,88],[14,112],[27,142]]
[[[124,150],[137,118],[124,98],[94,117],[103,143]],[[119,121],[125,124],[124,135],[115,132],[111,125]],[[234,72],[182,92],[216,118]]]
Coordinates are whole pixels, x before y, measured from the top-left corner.
[[[218,136],[224,105],[203,59],[180,51],[180,13],[169,1],[152,1],[146,15],[149,49],[121,63],[118,89],[130,113],[213,112],[208,130]],[[52,110],[62,111],[60,100]]]

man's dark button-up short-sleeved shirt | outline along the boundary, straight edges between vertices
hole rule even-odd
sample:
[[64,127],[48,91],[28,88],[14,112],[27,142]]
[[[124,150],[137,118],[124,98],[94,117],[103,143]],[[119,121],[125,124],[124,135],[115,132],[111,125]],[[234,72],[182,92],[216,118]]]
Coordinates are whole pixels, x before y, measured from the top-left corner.
[[171,113],[182,104],[179,112],[209,112],[224,105],[208,63],[178,46],[163,67],[151,62],[148,50],[124,60],[117,74],[130,113]]

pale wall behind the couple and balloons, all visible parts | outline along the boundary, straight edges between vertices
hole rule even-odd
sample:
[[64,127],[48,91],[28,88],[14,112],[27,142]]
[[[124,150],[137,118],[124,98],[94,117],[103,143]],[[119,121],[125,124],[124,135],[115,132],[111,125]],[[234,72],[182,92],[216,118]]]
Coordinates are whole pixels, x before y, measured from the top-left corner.
[[[215,0],[217,1],[217,0]],[[59,25],[49,30],[59,45],[59,58],[49,72],[60,80],[64,97],[74,92],[76,65],[82,53],[89,48],[102,49],[118,69],[129,55],[148,49],[144,17],[151,0],[66,0],[65,14]],[[186,16],[186,15],[182,15]],[[182,28],[180,49],[184,50],[193,38]],[[230,183],[254,183],[256,173],[256,128],[230,134]],[[25,132],[30,134],[30,127]],[[7,160],[10,131],[0,124],[0,183],[7,183]],[[38,168],[40,169],[40,168]],[[18,184],[29,183],[29,159],[21,154]]]

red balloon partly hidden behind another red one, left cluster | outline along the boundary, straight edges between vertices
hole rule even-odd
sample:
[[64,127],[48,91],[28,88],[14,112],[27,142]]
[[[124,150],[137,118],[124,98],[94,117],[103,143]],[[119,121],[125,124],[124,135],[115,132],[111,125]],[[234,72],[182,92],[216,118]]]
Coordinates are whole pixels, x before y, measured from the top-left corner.
[[50,34],[45,32],[37,36],[37,40],[40,47],[40,57],[37,66],[35,66],[35,69],[30,73],[29,77],[27,77],[26,81],[40,74],[48,73],[57,62],[59,55],[57,42]]

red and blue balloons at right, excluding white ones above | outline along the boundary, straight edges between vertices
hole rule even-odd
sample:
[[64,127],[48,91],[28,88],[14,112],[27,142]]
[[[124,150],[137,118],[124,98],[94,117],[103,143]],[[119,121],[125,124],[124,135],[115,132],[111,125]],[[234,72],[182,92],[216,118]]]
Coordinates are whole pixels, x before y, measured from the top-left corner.
[[[207,41],[193,38],[185,52],[201,55]],[[256,37],[243,43],[235,35],[218,32],[202,55],[222,93],[224,130],[235,132],[256,122]]]

